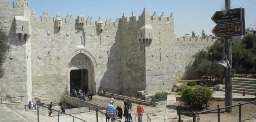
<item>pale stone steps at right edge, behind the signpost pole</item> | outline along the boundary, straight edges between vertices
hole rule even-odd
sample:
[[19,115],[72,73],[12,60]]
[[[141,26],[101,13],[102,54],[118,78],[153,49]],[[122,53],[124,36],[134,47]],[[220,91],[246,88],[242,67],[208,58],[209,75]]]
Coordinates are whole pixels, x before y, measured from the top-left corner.
[[[254,95],[254,89],[256,88],[255,78],[234,78],[232,80],[232,87],[234,93],[243,93],[244,89],[246,94]],[[225,92],[225,87],[220,89],[220,91]]]

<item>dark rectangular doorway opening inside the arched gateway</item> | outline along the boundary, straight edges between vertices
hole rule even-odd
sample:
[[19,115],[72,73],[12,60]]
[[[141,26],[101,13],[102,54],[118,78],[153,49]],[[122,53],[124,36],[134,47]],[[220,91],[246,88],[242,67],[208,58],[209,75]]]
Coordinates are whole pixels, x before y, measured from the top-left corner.
[[89,89],[87,69],[70,71],[70,91],[72,91],[71,89],[75,89],[77,92],[79,89],[82,89],[84,92]]

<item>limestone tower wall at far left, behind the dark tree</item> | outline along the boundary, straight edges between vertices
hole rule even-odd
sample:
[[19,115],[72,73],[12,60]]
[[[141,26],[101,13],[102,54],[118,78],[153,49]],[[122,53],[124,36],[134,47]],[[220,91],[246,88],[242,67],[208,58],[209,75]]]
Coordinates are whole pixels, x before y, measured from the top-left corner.
[[[28,3],[24,0],[13,2],[13,7],[9,6],[9,1],[0,0],[0,27],[9,34],[9,44],[12,47],[7,54],[6,62],[3,63],[4,76],[0,79],[0,95],[25,96],[24,101],[31,99],[31,61],[30,61],[30,39],[18,39],[15,27],[15,16],[28,17],[30,10]],[[27,18],[29,20],[29,18]]]

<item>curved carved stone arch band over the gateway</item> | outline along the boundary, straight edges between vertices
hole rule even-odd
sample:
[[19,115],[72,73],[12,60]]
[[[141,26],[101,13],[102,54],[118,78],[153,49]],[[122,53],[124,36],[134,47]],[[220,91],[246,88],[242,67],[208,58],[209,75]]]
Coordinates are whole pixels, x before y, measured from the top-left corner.
[[73,59],[73,57],[74,57],[75,55],[79,54],[79,53],[82,53],[82,54],[86,55],[86,56],[91,60],[94,69],[97,69],[97,68],[98,68],[97,63],[96,63],[96,60],[95,60],[95,58],[92,56],[92,54],[89,53],[89,52],[86,51],[86,50],[83,50],[83,49],[76,50],[75,52],[73,52],[73,53],[70,55],[70,57],[68,57],[67,68],[69,67],[70,61]]

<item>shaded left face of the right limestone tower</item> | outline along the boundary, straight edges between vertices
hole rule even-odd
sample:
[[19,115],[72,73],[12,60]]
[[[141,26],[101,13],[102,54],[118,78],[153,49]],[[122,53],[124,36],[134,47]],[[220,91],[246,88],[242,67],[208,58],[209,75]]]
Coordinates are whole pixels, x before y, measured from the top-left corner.
[[[145,60],[144,50],[140,48],[137,39],[138,19],[132,16],[123,17],[120,20],[122,41],[122,94],[135,96],[137,91],[145,89]],[[131,17],[130,17],[131,18]]]

